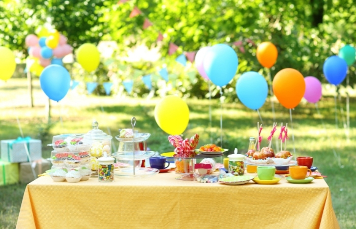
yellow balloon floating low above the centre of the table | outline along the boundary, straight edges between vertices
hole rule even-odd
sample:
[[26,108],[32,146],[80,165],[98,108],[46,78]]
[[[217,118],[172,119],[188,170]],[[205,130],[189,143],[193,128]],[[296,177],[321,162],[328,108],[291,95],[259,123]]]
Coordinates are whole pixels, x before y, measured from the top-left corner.
[[155,120],[164,132],[182,134],[189,123],[189,107],[177,96],[166,96],[155,107]]

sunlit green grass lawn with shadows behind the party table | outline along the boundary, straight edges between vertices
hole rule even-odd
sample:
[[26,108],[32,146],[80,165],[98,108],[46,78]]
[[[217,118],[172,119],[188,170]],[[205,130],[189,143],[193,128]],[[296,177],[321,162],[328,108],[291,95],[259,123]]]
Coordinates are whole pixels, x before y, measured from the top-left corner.
[[[20,136],[16,117],[19,118],[25,136],[42,139],[43,157],[50,155],[52,136],[62,133],[86,133],[91,130],[93,119],[99,122],[99,128],[112,136],[118,134],[118,129],[130,128],[132,117],[137,119],[136,129],[151,133],[147,146],[160,153],[172,151],[164,133],[154,119],[155,104],[159,99],[116,98],[112,96],[82,95],[70,91],[61,102],[51,101],[52,125],[45,121],[46,96],[41,91],[39,80],[34,84],[34,107],[29,108],[26,79],[10,79],[0,82],[0,139],[12,139]],[[211,142],[220,145],[220,102],[219,100],[188,99],[190,122],[184,137],[193,134],[200,135],[199,146]],[[209,121],[209,105],[212,107],[212,124]],[[340,103],[338,102],[338,105]],[[343,109],[345,98],[342,99]],[[350,132],[346,138],[339,108],[338,128],[335,125],[334,98],[326,97],[318,104],[319,116],[314,104],[302,103],[292,110],[293,131],[289,120],[289,110],[280,104],[275,104],[276,121],[288,123],[289,141],[287,149],[293,152],[292,132],[297,156],[314,157],[314,166],[319,168],[325,181],[331,189],[332,201],[341,228],[356,227],[356,98],[350,98]],[[260,109],[264,123],[262,130],[262,147],[267,146],[273,116],[271,102],[266,101]],[[227,154],[239,148],[239,153],[247,151],[249,137],[256,135],[257,122],[260,122],[256,111],[250,110],[240,102],[223,104],[223,148],[229,149]],[[323,128],[322,122],[325,124]],[[277,131],[278,132],[278,131]],[[275,134],[278,136],[278,134]],[[118,145],[118,141],[114,140]],[[336,151],[336,156],[333,153]],[[275,148],[276,149],[276,148]],[[26,184],[0,186],[0,226],[14,228],[21,206],[22,195]],[[290,197],[298,193],[290,193]],[[276,212],[276,214],[279,214]]]

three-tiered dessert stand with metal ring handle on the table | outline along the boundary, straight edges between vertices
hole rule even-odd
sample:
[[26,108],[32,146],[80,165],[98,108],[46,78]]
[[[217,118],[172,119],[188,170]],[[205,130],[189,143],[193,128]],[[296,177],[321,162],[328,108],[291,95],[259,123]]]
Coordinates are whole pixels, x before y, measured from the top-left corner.
[[115,138],[120,141],[120,144],[132,144],[132,150],[129,151],[117,151],[117,153],[113,153],[112,156],[116,158],[116,160],[127,161],[129,164],[132,163],[132,166],[121,167],[120,169],[114,170],[114,175],[118,178],[147,178],[154,176],[159,173],[159,169],[157,168],[143,168],[136,167],[136,164],[142,160],[152,157],[155,155],[155,151],[142,151],[136,150],[134,144],[136,142],[141,142],[147,140],[151,134],[150,133],[137,133],[135,132],[136,118],[133,117],[131,119],[132,132],[134,133],[133,137],[120,137],[120,135],[115,136]]

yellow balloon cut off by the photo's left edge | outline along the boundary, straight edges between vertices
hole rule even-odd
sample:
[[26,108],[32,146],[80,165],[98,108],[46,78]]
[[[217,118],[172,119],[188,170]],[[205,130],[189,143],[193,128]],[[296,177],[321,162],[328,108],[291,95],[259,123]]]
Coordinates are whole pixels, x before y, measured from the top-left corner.
[[6,47],[0,46],[0,79],[8,80],[16,69],[15,55]]

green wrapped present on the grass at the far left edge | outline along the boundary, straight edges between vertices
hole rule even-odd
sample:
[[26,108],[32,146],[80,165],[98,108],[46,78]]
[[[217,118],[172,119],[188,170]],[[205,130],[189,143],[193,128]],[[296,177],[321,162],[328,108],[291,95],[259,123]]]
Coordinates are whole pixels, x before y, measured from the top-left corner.
[[18,163],[0,160],[0,186],[18,182]]

